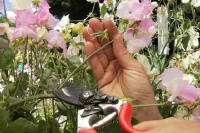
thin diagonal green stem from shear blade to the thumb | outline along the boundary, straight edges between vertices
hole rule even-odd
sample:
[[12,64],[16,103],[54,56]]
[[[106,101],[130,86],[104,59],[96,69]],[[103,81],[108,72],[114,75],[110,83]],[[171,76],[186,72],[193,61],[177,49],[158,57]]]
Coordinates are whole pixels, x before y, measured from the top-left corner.
[[57,88],[57,89],[61,89],[63,86],[64,86],[64,84],[91,58],[91,57],[93,57],[95,54],[97,54],[99,51],[101,51],[101,50],[103,50],[103,49],[105,49],[108,45],[110,45],[111,43],[113,43],[113,40],[112,41],[110,41],[110,42],[108,42],[108,43],[106,43],[105,45],[103,45],[101,48],[99,48],[99,49],[97,49],[96,51],[94,51],[91,55],[89,55],[86,59],[85,59],[85,61],[82,63],[82,64],[80,64],[61,84],[60,84],[60,86]]

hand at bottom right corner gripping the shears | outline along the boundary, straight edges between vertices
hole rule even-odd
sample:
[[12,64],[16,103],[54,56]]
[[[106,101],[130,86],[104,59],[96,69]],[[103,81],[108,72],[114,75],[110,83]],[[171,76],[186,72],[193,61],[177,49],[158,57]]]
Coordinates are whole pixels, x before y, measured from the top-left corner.
[[142,122],[134,128],[143,130],[142,133],[199,133],[200,123],[168,118],[164,120],[154,120]]

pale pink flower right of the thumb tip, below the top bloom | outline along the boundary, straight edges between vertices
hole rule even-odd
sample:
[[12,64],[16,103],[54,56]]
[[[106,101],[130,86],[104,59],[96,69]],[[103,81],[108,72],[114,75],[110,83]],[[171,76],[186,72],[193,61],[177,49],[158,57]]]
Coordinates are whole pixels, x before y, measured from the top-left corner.
[[155,22],[150,19],[144,19],[136,28],[129,28],[123,37],[127,42],[127,49],[130,53],[136,53],[139,50],[148,47],[151,38],[156,33]]

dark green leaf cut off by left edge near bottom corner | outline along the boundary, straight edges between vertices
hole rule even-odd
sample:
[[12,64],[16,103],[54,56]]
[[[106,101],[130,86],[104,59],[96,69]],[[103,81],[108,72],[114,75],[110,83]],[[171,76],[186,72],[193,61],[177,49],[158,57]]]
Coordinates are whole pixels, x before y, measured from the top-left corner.
[[8,127],[9,119],[9,113],[3,109],[0,109],[0,133],[5,133]]

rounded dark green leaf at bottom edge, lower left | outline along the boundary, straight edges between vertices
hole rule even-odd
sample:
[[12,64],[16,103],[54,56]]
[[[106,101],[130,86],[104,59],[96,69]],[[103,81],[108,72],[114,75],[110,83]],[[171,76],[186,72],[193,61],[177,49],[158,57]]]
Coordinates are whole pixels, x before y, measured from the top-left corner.
[[36,124],[25,118],[19,118],[9,124],[6,133],[38,133],[39,128]]

